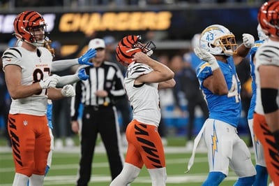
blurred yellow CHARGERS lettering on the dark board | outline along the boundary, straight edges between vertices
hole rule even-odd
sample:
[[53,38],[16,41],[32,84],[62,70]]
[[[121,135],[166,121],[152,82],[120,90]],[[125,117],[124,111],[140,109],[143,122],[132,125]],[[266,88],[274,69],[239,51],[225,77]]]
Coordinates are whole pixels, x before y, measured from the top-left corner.
[[120,13],[66,13],[61,16],[59,31],[140,31],[165,30],[171,24],[172,13],[162,12],[120,12]]

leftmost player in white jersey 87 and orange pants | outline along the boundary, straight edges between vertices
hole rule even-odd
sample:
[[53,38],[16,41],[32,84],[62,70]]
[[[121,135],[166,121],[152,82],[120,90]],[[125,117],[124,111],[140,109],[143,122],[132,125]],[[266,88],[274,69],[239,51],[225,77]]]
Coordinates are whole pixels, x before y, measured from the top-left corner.
[[[63,82],[50,76],[52,53],[45,48],[47,24],[35,11],[24,11],[15,17],[15,36],[20,46],[3,52],[3,70],[12,103],[8,115],[8,132],[12,141],[15,178],[13,185],[43,185],[47,156],[50,152],[50,132],[47,127],[47,99],[74,96],[72,85],[56,89]],[[86,62],[86,57],[82,58]],[[67,60],[78,64],[82,59]],[[57,62],[59,66],[61,62]],[[65,65],[65,62],[63,62]]]

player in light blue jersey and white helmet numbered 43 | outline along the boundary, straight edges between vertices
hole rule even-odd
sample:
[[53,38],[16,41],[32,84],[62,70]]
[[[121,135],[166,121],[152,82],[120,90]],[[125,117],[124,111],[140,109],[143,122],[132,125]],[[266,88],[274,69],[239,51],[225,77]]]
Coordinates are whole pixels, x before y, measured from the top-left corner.
[[241,115],[241,86],[235,66],[248,55],[254,37],[243,34],[243,44],[237,46],[229,29],[213,24],[202,31],[199,42],[195,53],[204,62],[197,68],[197,78],[209,108],[209,119],[197,135],[202,134],[208,150],[209,176],[202,185],[220,185],[229,167],[239,176],[234,185],[252,185],[255,167],[246,143],[236,131]]

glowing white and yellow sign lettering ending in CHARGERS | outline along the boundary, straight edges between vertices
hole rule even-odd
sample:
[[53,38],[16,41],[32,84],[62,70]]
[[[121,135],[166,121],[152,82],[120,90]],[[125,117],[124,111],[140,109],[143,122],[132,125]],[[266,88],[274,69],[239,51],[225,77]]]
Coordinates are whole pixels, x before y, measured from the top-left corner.
[[[15,16],[15,14],[0,15],[0,33],[13,33]],[[172,23],[172,13],[169,11],[63,13],[61,17],[50,13],[44,14],[43,17],[47,22],[48,31],[52,31],[55,22],[58,22],[60,32],[81,31],[84,34],[90,34],[92,31],[166,30]]]

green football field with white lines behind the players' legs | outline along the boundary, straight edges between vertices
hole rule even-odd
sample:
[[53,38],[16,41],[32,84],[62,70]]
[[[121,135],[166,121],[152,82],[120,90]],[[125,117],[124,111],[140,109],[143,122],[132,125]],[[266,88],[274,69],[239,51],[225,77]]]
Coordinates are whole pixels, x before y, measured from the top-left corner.
[[[183,148],[183,138],[168,138],[165,147],[167,162],[167,185],[202,185],[208,173],[207,158],[205,152],[199,152],[195,157],[195,164],[189,173],[185,173],[190,158],[190,152]],[[65,148],[54,151],[52,167],[45,177],[44,185],[75,185],[77,179],[80,148]],[[252,156],[253,157],[253,156]],[[0,148],[0,185],[10,186],[13,183],[14,166],[13,157],[9,150]],[[110,169],[107,163],[107,156],[102,147],[97,148],[92,164],[92,175],[89,185],[110,185]],[[232,170],[221,185],[233,185],[236,176]],[[133,186],[151,185],[149,174],[145,168],[140,176],[131,184]]]

